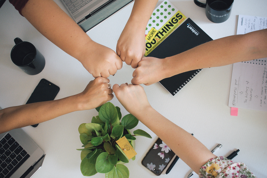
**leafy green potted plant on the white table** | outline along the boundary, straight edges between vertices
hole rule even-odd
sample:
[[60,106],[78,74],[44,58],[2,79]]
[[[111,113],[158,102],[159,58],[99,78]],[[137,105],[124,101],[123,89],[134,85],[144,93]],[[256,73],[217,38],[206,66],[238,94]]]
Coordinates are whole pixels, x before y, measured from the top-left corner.
[[[116,141],[125,136],[135,148],[135,136],[151,136],[140,129],[133,131],[138,119],[127,114],[121,119],[119,107],[111,102],[96,108],[98,116],[93,117],[91,123],[79,126],[80,140],[83,144],[81,150],[81,172],[84,176],[92,176],[97,172],[105,173],[105,178],[128,178],[129,170],[123,165],[129,159]],[[121,121],[120,121],[121,120]],[[135,156],[132,160],[135,159]]]

